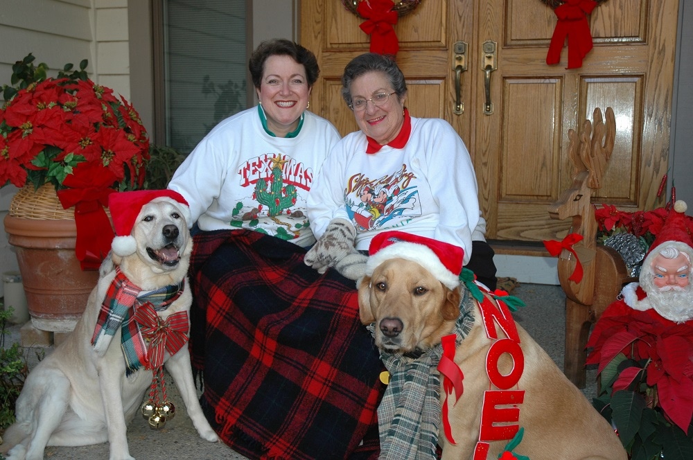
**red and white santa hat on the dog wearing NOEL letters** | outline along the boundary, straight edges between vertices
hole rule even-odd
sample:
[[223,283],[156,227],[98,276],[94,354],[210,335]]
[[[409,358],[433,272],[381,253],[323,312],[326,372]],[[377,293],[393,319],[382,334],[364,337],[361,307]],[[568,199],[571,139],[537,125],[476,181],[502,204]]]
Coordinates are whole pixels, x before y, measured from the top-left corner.
[[459,286],[464,258],[464,250],[459,246],[403,231],[385,231],[371,240],[368,251],[368,276],[385,260],[403,258],[418,263],[448,288]]

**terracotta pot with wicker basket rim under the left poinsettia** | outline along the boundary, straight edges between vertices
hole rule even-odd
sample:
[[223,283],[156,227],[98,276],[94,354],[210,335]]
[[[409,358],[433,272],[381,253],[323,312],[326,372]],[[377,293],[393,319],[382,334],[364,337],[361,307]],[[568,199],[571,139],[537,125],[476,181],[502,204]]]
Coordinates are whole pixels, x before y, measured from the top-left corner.
[[5,231],[15,247],[33,326],[73,330],[82,316],[98,271],[82,271],[75,255],[73,209],[62,209],[51,185],[25,186],[12,198]]

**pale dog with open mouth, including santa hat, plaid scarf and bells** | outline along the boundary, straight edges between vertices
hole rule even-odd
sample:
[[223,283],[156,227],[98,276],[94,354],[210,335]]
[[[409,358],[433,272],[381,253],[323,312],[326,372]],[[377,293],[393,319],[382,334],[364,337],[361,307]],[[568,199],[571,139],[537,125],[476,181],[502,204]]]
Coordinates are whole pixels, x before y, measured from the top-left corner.
[[175,191],[132,191],[109,195],[109,209],[112,251],[75,329],[24,383],[17,421],[0,446],[8,460],[43,459],[46,445],[106,441],[110,459],[132,460],[132,417],[141,412],[158,429],[175,414],[164,366],[200,436],[218,441],[200,408],[187,346],[188,203]]

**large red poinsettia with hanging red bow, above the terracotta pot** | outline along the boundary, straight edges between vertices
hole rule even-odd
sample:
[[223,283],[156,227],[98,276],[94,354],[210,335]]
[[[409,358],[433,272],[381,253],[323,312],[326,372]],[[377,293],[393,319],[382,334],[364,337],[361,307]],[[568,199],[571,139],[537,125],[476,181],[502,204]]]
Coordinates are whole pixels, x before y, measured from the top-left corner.
[[113,238],[107,196],[142,188],[148,134],[125,98],[89,80],[87,60],[56,78],[33,61],[17,61],[3,85],[0,186],[54,186],[64,209],[75,206],[82,268],[98,268]]

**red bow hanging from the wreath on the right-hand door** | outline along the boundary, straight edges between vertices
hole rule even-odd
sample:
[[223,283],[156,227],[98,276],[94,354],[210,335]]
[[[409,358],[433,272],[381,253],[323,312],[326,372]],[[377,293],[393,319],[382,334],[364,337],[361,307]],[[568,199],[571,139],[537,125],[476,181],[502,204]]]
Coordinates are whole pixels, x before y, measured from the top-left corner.
[[559,18],[554,34],[551,37],[546,63],[558,64],[561,60],[561,50],[568,37],[568,67],[582,67],[582,59],[592,49],[592,34],[587,22],[587,15],[597,6],[594,0],[565,0],[563,5],[556,7],[554,12]]

